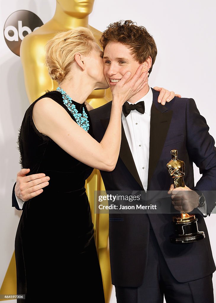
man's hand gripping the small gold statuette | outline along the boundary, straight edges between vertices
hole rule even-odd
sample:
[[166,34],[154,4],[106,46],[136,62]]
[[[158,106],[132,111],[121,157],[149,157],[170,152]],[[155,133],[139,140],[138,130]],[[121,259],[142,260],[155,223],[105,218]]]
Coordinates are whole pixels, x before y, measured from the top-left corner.
[[174,188],[172,184],[168,191],[171,194],[172,204],[178,211],[190,212],[199,205],[199,196],[196,191],[191,190],[185,185],[185,187]]

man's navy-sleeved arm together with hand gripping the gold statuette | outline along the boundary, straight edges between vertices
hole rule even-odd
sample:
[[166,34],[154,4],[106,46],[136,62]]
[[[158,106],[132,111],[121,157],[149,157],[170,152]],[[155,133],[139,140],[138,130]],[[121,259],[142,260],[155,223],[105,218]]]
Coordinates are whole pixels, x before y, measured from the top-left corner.
[[[190,188],[171,189],[174,208],[190,212],[198,208],[199,190],[205,196],[206,214],[211,214],[216,201],[216,148],[214,138],[209,134],[209,127],[203,116],[200,115],[193,99],[188,99],[186,107],[187,150],[189,157],[199,167],[202,177],[190,192]],[[180,194],[180,191],[181,194]],[[178,194],[177,194],[178,193]],[[178,201],[176,204],[175,201]],[[201,210],[201,209],[200,209]]]

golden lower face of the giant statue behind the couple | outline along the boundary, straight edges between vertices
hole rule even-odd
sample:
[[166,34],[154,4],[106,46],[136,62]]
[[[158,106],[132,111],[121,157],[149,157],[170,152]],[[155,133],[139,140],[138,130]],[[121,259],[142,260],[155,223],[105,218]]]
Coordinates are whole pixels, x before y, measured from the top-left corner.
[[94,0],[57,0],[64,12],[75,17],[85,17],[91,14]]

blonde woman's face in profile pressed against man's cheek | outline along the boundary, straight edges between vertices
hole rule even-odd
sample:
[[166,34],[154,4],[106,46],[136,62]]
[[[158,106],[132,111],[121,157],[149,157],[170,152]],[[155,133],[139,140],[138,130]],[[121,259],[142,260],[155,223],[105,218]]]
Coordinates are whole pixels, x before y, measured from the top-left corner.
[[88,76],[95,82],[95,88],[105,89],[109,85],[104,76],[103,51],[97,43],[93,42],[92,45],[91,53],[85,58],[86,70]]

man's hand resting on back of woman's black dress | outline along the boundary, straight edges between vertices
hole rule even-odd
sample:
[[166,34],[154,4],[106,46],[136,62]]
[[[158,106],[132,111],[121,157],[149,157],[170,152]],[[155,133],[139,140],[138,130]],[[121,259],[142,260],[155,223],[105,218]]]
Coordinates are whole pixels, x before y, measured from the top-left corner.
[[29,168],[23,168],[18,172],[15,185],[15,194],[22,201],[28,201],[43,192],[44,187],[49,185],[49,177],[45,174],[26,176]]

